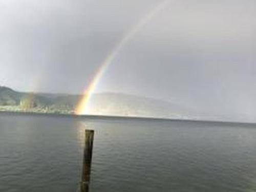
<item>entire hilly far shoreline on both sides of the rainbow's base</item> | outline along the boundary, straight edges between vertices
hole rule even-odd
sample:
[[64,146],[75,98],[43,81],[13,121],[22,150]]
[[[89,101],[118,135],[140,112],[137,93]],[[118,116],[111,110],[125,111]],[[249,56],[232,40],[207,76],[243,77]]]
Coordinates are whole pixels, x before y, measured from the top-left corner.
[[[80,97],[80,95],[67,94],[25,93],[14,91],[7,87],[0,87],[0,106],[6,106],[6,108],[3,108],[7,109],[6,111],[15,109],[14,111],[74,113]],[[187,113],[187,109],[177,104],[123,93],[93,95],[90,101],[90,114],[191,118]]]

